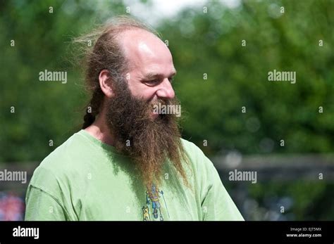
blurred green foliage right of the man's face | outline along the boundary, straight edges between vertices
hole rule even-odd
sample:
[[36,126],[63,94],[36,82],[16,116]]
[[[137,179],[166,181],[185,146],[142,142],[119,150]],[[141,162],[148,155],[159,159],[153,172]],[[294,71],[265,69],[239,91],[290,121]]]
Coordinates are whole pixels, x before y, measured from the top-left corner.
[[[233,10],[213,2],[210,14],[188,9],[161,27],[189,113],[185,135],[208,140],[207,153],[334,151],[334,1],[274,2]],[[296,71],[297,83],[268,82],[274,69]],[[264,139],[273,146],[259,146]]]

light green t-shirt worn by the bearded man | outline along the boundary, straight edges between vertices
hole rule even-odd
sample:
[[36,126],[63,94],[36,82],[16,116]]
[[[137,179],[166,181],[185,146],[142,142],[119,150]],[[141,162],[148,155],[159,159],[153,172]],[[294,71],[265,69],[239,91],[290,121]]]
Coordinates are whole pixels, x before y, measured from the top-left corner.
[[243,220],[212,162],[183,140],[192,187],[171,162],[147,189],[130,158],[87,131],[73,134],[35,169],[25,220]]

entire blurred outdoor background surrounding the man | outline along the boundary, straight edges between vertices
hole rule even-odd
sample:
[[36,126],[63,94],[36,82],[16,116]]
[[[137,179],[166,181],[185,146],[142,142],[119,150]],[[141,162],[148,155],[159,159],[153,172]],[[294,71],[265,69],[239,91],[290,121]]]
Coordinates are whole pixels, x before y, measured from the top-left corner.
[[[0,220],[23,219],[32,172],[80,130],[88,100],[71,40],[118,14],[161,32],[183,138],[245,219],[333,220],[333,13],[331,0],[0,1],[0,170],[28,176],[0,181]],[[68,72],[66,84],[40,82],[44,70]],[[273,70],[296,72],[296,84],[268,82]],[[256,184],[230,181],[234,169]]]

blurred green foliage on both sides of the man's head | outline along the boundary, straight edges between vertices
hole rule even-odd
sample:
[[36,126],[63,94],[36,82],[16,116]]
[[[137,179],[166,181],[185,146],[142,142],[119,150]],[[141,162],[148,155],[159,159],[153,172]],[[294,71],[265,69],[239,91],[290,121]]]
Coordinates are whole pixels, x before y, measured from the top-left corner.
[[[333,152],[334,1],[206,6],[208,13],[187,8],[158,27],[178,69],[175,90],[187,111],[185,138],[199,146],[207,140],[202,149],[209,155],[231,149]],[[79,128],[86,98],[80,70],[70,63],[70,40],[117,13],[125,13],[120,1],[1,1],[0,106],[6,129],[0,161],[42,160],[53,149],[50,139],[58,146]],[[68,71],[68,83],[39,82],[45,69]],[[296,71],[297,83],[268,82],[274,69]],[[11,106],[16,113],[9,113]]]

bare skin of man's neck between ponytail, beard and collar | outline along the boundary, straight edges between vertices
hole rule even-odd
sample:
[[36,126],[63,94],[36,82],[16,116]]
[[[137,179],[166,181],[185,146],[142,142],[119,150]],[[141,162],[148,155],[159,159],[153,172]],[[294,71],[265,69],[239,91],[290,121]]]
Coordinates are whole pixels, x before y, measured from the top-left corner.
[[99,116],[97,116],[94,123],[89,125],[89,127],[87,127],[85,131],[87,131],[89,134],[94,136],[99,141],[102,141],[103,143],[113,146],[114,144],[113,136],[111,135],[110,130],[107,127],[105,121],[106,120],[104,113],[101,113]]

